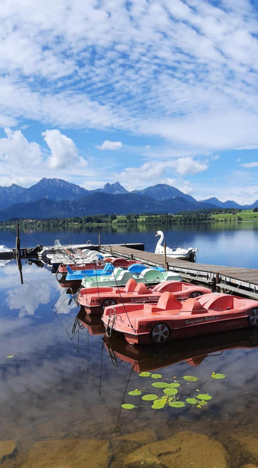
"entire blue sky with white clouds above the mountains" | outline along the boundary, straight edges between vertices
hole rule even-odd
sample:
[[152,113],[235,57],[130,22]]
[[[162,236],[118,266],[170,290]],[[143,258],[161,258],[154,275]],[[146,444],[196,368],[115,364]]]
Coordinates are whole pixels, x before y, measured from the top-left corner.
[[0,185],[256,200],[257,13],[246,0],[2,0]]

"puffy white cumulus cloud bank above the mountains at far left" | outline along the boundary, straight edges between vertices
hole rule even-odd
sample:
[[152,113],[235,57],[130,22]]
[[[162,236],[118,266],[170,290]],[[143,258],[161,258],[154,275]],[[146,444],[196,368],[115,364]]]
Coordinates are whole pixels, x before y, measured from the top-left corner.
[[29,142],[20,130],[5,128],[5,134],[0,138],[0,185],[17,183],[27,186],[45,176],[75,178],[77,182],[78,174],[81,180],[90,179],[94,174],[87,161],[79,155],[74,141],[59,130],[42,133],[49,151],[35,141]]

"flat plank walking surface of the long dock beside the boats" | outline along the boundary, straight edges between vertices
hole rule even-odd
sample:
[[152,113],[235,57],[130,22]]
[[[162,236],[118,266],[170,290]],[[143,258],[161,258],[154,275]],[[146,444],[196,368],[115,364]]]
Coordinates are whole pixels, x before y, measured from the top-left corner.
[[[110,251],[106,246],[102,247],[103,250]],[[112,252],[114,255],[125,256],[125,258],[133,258],[135,260],[140,260],[142,262],[148,263],[150,266],[163,266],[164,265],[164,256],[157,255],[152,252],[139,252],[136,249],[128,249],[127,247],[112,247]],[[170,270],[175,271],[184,271],[185,273],[192,273],[198,276],[205,276],[211,278],[218,273],[221,277],[230,278],[231,281],[242,281],[244,283],[250,283],[253,285],[258,285],[258,270],[252,270],[249,268],[237,268],[221,265],[207,265],[205,263],[192,263],[186,260],[171,259],[167,256],[167,262]]]

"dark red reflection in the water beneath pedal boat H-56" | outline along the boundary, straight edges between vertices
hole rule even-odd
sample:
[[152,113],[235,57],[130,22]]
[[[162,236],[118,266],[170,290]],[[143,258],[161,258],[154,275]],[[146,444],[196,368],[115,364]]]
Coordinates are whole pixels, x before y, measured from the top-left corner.
[[240,329],[215,335],[194,337],[161,346],[133,346],[123,336],[106,335],[104,345],[112,362],[125,361],[135,372],[152,371],[171,364],[199,366],[202,361],[223,351],[258,347],[257,329]]

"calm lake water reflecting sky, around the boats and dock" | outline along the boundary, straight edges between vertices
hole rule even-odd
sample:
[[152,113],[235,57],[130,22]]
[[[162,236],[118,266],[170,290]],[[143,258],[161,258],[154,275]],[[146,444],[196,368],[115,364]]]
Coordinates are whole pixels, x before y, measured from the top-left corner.
[[[88,238],[96,242],[100,231],[103,243],[139,241],[146,250],[154,250],[156,228],[30,234],[52,244],[56,238],[63,243]],[[164,228],[164,232],[167,245],[199,247],[200,262],[257,268],[255,224],[227,226],[226,231],[215,225]],[[0,244],[13,246],[14,238],[14,231],[0,230]],[[28,236],[22,241],[34,245]],[[78,308],[47,267],[24,263],[23,278],[21,285],[15,262],[0,269],[0,463],[4,468],[258,464],[256,330],[162,348],[137,349],[115,337],[106,343],[96,318],[72,334]],[[142,371],[162,378],[140,377]],[[225,373],[226,378],[207,383],[212,372]],[[189,383],[185,375],[199,380]],[[205,387],[212,400],[202,408],[187,404],[155,410],[151,401],[141,399],[144,393],[128,395],[134,389],[164,395],[163,389],[151,385],[160,380],[179,381],[183,398],[192,398]],[[120,411],[122,402],[137,408]],[[10,458],[1,458],[8,453]]]

